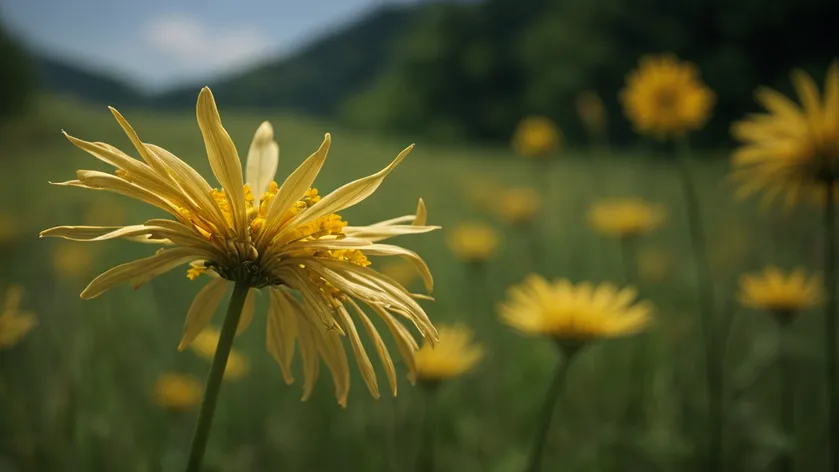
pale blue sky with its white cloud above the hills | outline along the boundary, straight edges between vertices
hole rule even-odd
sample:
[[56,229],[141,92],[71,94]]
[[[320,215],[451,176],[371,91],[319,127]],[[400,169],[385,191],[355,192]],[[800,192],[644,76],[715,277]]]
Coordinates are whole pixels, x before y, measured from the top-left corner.
[[145,89],[276,57],[377,5],[411,0],[0,0],[30,47]]

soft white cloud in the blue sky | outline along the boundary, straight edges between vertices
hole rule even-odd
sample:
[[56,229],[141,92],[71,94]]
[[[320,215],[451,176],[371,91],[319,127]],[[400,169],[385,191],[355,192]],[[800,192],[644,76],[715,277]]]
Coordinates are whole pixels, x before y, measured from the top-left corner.
[[187,17],[158,18],[147,25],[143,38],[189,75],[229,71],[271,52],[270,41],[257,30],[216,30]]

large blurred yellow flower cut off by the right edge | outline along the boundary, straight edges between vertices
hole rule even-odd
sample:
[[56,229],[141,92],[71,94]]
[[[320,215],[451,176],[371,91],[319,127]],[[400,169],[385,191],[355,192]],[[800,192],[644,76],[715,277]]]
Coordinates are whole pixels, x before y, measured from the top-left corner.
[[743,143],[732,156],[732,178],[741,183],[739,197],[764,190],[767,203],[782,193],[788,206],[800,196],[823,202],[824,183],[839,179],[839,60],[827,71],[823,102],[806,73],[793,72],[792,82],[801,106],[761,88],[757,101],[767,113],[732,127]]

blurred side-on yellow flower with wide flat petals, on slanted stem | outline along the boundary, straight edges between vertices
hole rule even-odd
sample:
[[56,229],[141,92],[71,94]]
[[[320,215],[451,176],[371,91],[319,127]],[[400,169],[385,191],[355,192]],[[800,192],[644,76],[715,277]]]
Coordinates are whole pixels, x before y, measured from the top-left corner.
[[609,283],[594,287],[588,282],[572,285],[568,280],[549,283],[529,275],[509,290],[509,299],[499,308],[501,320],[513,328],[558,341],[585,343],[598,338],[626,336],[650,323],[652,305],[635,302],[637,292],[618,290]]

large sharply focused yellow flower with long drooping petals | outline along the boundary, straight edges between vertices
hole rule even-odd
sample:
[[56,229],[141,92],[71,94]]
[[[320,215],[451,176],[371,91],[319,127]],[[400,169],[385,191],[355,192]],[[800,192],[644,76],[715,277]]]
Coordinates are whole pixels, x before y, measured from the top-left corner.
[[[124,227],[59,226],[43,231],[41,236],[76,241],[123,238],[163,246],[147,258],[119,265],[96,277],[82,292],[82,298],[94,298],[121,283],[136,288],[190,263],[190,279],[204,274],[210,280],[189,308],[180,349],[189,346],[208,325],[232,281],[250,287],[248,298],[258,289],[268,292],[268,351],[290,383],[294,381],[294,347],[299,343],[304,399],[312,392],[322,357],[332,373],[338,402],[346,405],[350,372],[344,338],[349,338],[368,389],[378,396],[376,374],[361,342],[357,322],[376,346],[390,388],[396,392],[390,355],[358,302],[384,320],[409,369],[413,369],[413,352],[418,346],[401,320],[432,340],[437,332],[416,301],[422,296],[409,293],[368,267],[367,257],[402,256],[411,260],[426,289],[431,291],[431,273],[425,262],[413,251],[381,241],[438,227],[425,224],[422,200],[416,214],[370,226],[350,226],[338,212],[372,195],[413,146],[383,170],[321,196],[312,184],[329,151],[331,138],[327,134],[320,148],[278,185],[273,179],[279,147],[271,125],[262,123],[256,131],[243,172],[213,95],[204,88],[198,96],[198,126],[210,167],[221,184],[221,189],[215,189],[181,159],[144,143],[119,112],[111,111],[141,159],[108,144],[68,135],[73,144],[116,167],[116,171],[110,174],[80,170],[76,180],[58,185],[119,193],[152,205],[171,218]],[[251,315],[243,314],[240,331],[251,321]]]

